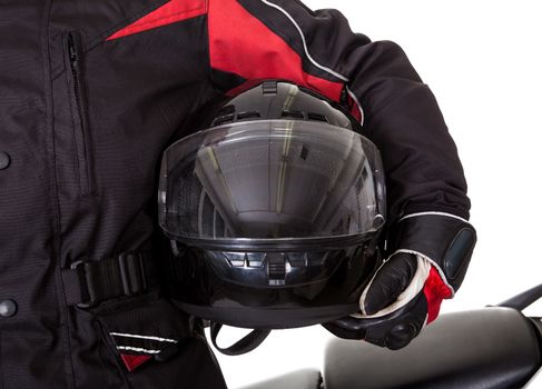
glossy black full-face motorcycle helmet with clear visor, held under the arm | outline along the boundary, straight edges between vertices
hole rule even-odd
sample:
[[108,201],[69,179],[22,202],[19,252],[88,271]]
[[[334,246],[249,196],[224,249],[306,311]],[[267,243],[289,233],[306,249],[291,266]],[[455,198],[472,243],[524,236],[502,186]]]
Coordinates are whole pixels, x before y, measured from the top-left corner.
[[376,147],[341,107],[289,82],[260,82],[217,112],[161,162],[179,306],[259,329],[357,311],[385,217]]

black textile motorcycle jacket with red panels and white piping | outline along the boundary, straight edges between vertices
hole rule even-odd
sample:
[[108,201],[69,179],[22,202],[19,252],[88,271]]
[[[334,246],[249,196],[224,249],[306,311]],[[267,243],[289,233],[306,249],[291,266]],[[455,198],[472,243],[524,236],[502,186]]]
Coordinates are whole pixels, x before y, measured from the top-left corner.
[[199,322],[161,292],[157,169],[195,112],[246,81],[287,79],[351,109],[383,153],[391,223],[469,218],[430,89],[397,44],[337,11],[0,3],[2,389],[225,387]]

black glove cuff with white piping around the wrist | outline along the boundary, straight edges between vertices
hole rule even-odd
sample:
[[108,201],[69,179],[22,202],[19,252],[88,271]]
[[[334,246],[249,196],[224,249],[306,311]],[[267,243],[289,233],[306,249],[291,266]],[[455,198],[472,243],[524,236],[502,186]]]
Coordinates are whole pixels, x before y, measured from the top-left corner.
[[390,247],[428,259],[455,292],[466,273],[476,231],[463,218],[444,212],[420,212],[403,217],[391,228]]

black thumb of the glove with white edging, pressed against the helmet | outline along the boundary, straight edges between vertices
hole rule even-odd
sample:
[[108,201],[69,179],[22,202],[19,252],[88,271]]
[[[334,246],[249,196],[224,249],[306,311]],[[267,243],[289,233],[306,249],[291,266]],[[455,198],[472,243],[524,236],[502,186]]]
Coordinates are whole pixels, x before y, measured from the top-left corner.
[[374,315],[391,306],[411,285],[417,270],[417,258],[407,252],[390,257],[376,272],[361,298],[364,315]]

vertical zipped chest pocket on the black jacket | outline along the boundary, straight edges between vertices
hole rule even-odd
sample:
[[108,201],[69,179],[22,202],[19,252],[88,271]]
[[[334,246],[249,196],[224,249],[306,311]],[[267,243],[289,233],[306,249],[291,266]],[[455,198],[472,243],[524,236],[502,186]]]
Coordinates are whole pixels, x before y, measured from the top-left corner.
[[73,146],[81,196],[96,193],[92,161],[92,133],[89,122],[87,84],[85,82],[85,49],[81,36],[69,32],[63,39],[68,93],[73,128]]

